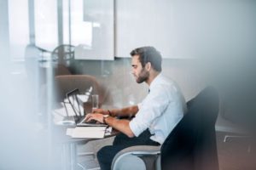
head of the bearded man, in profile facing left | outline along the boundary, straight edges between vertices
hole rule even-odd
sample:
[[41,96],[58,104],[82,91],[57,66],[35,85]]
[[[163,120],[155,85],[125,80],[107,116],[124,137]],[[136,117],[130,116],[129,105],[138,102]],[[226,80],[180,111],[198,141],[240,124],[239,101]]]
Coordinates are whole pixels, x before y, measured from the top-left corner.
[[159,73],[162,57],[154,47],[136,48],[131,51],[132,74],[136,77],[136,82],[148,82],[150,74]]

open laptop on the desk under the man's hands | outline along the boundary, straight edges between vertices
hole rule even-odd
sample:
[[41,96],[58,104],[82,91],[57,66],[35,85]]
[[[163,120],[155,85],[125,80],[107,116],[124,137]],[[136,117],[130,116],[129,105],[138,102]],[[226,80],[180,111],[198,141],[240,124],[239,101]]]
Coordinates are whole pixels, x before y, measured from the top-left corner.
[[73,109],[73,121],[78,127],[102,127],[107,126],[103,123],[96,123],[96,121],[85,122],[85,111],[83,102],[79,101],[79,88],[75,88],[66,94],[68,103]]

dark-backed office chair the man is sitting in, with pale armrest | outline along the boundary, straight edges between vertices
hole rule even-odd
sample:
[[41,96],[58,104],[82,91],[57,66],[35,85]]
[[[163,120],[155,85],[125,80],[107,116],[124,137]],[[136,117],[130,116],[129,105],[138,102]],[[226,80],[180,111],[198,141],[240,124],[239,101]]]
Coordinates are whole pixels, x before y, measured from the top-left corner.
[[[205,88],[187,105],[188,112],[160,148],[132,146],[121,150],[113,158],[112,169],[131,169],[134,162],[140,162],[142,165],[136,169],[218,170],[214,127],[218,94],[214,88]],[[148,157],[151,157],[150,162]]]

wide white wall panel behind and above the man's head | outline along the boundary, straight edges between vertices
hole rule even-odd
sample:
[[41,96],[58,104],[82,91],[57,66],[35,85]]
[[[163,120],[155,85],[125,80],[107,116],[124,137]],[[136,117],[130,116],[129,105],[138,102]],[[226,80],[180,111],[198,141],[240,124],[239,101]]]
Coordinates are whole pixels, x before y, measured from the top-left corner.
[[152,45],[164,58],[231,57],[255,52],[256,2],[118,0],[116,56]]

